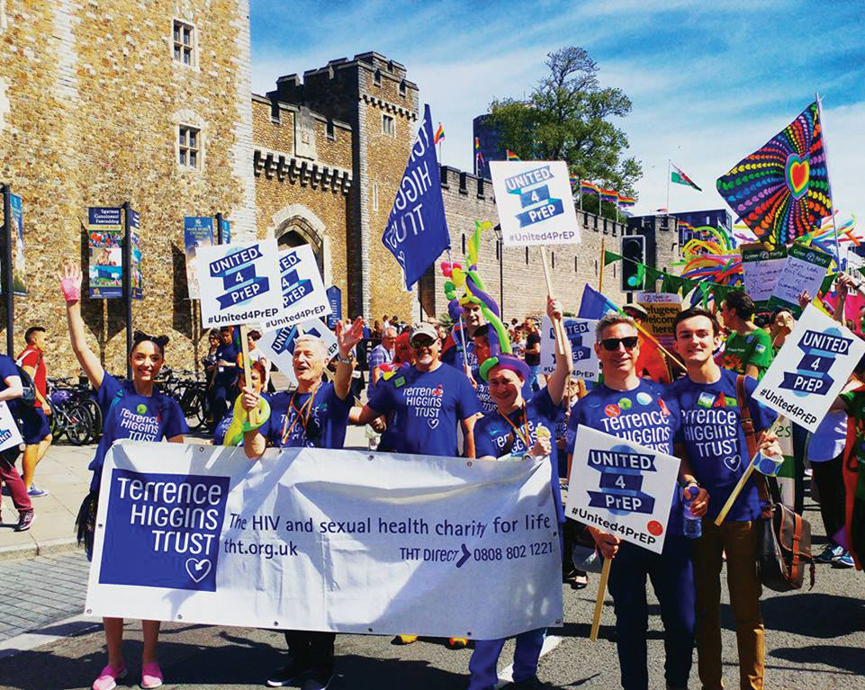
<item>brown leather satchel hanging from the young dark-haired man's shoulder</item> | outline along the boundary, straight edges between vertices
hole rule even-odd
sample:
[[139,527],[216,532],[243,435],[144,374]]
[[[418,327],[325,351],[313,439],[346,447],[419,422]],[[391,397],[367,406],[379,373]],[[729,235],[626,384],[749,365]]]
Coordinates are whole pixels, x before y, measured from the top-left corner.
[[[744,376],[736,377],[736,399],[742,415],[742,426],[748,453],[757,453],[757,437],[751,409],[745,400]],[[764,587],[775,592],[801,589],[805,579],[805,566],[810,565],[811,589],[814,588],[814,556],[811,553],[811,524],[781,503],[778,482],[754,472],[757,492],[766,505],[763,515],[754,521],[757,531],[757,572]],[[770,500],[771,499],[771,500]]]

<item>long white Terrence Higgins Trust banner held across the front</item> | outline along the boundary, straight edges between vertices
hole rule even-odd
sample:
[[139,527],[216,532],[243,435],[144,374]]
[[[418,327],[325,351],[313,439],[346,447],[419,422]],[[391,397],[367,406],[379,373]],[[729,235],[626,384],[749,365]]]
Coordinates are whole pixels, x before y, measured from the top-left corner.
[[122,441],[86,613],[481,640],[561,624],[550,479],[548,461]]

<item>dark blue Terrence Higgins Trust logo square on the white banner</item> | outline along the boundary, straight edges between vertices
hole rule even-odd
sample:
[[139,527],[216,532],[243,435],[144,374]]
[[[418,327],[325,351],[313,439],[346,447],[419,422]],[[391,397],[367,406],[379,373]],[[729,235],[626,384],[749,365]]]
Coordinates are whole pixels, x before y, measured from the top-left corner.
[[216,591],[228,477],[114,470],[100,584]]

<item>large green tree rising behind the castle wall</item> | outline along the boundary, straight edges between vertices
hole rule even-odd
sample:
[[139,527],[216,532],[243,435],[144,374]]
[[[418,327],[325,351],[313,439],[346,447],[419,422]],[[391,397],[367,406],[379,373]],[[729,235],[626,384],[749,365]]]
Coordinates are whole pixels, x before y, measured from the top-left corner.
[[[626,157],[627,135],[613,121],[631,112],[631,100],[621,89],[601,88],[598,65],[585,49],[556,50],[545,64],[549,74],[525,101],[490,104],[501,145],[524,159],[563,160],[572,175],[633,196],[643,167]],[[615,217],[612,204],[604,210]]]

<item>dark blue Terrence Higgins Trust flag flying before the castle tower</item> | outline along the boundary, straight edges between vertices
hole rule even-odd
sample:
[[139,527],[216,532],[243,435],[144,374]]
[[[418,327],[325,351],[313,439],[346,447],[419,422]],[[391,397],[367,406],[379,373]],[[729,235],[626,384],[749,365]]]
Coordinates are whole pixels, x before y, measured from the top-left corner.
[[427,105],[382,237],[400,262],[407,290],[451,246],[440,179]]

